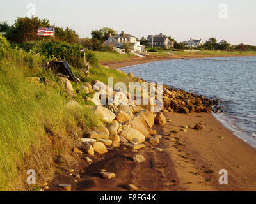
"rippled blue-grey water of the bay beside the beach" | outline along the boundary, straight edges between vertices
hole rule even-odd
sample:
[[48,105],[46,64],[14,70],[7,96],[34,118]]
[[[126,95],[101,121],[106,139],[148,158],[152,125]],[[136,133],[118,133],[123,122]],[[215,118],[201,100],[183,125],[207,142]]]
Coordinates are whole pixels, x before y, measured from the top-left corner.
[[[218,59],[236,60],[236,57]],[[246,59],[256,61],[256,57],[237,57],[237,61]],[[177,89],[230,101],[225,113],[214,113],[214,116],[256,147],[256,62],[170,60],[121,70],[131,71],[150,82],[163,82]]]

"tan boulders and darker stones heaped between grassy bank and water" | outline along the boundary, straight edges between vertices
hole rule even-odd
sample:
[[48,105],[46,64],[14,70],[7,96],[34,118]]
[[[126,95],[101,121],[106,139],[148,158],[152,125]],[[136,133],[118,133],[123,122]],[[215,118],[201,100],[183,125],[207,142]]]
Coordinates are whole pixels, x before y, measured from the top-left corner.
[[[150,82],[146,82],[141,78],[134,77],[132,73],[129,73],[128,75],[140,84],[150,84]],[[65,82],[67,92],[72,92],[72,84],[70,84],[67,79],[62,81]],[[148,105],[136,105],[135,99],[132,101],[134,104],[131,104],[131,100],[129,101],[130,94],[128,92],[125,92],[124,94],[124,92],[120,92],[120,90],[113,90],[99,80],[93,81],[92,84],[84,83],[81,89],[85,89],[88,93],[92,93],[93,90],[97,91],[94,94],[94,98],[86,98],[86,100],[93,101],[97,104],[97,106],[92,108],[97,117],[100,117],[105,124],[98,129],[84,132],[83,135],[81,135],[81,138],[77,141],[76,147],[73,149],[76,156],[81,157],[83,155],[82,163],[84,163],[84,160],[86,161],[87,165],[84,166],[84,164],[82,164],[83,170],[81,170],[81,172],[83,172],[83,174],[86,173],[86,168],[88,168],[86,166],[95,163],[93,157],[96,156],[96,160],[102,162],[102,159],[104,159],[103,155],[109,154],[109,151],[113,152],[117,150],[128,151],[130,153],[134,152],[129,159],[134,163],[143,163],[145,162],[145,157],[142,154],[136,154],[139,150],[146,148],[151,149],[154,152],[163,152],[164,150],[159,146],[163,140],[180,144],[179,140],[175,138],[175,134],[177,134],[177,131],[175,130],[170,131],[165,135],[157,134],[155,129],[156,126],[164,127],[167,123],[172,122],[166,120],[163,113],[211,113],[214,104],[218,104],[216,101],[212,101],[202,95],[197,96],[190,92],[173,89],[163,85],[163,89],[157,89],[155,92],[155,97],[157,97],[159,92],[163,93],[163,101],[161,101],[163,102],[162,109],[161,111],[152,111],[156,104],[149,103]],[[143,89],[141,88],[141,90]],[[100,99],[102,99],[104,94],[108,99],[110,93],[113,93],[113,104],[102,105]],[[145,97],[148,96],[142,94],[142,98]],[[80,105],[76,101],[70,101],[67,104],[67,108],[76,108],[78,106]],[[153,128],[153,126],[155,128]],[[182,126],[182,131],[186,132],[188,128],[188,126]],[[191,128],[195,131],[200,131],[204,129],[204,126],[202,123],[198,123]],[[72,169],[67,170],[67,173],[68,176],[75,177],[72,185],[77,186],[79,184],[77,184],[77,182],[81,179],[82,173],[74,174]],[[97,175],[102,179],[112,179],[116,177],[115,172],[109,172],[104,169],[98,170]],[[60,180],[63,180],[63,178]],[[55,184],[55,186],[50,187],[49,191],[53,189],[64,191],[70,191],[71,189],[76,190],[74,187],[67,188],[68,185],[71,186],[71,184]],[[134,184],[127,184],[124,189],[130,191],[139,190]]]

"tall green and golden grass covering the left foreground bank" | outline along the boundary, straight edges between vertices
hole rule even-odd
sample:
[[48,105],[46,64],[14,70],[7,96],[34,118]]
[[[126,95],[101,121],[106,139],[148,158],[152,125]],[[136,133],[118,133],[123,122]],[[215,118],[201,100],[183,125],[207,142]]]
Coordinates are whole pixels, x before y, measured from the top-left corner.
[[77,134],[100,124],[85,106],[66,108],[70,97],[51,73],[50,85],[27,80],[47,73],[14,52],[0,60],[0,191],[26,189],[29,169],[36,170],[36,184],[50,179],[54,157],[69,152]]

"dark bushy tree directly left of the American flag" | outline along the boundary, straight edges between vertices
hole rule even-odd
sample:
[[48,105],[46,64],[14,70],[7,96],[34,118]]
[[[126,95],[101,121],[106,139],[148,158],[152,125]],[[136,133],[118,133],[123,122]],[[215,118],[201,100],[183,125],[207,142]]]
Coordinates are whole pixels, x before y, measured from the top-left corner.
[[[36,31],[38,27],[49,26],[49,20],[40,20],[35,18],[18,17],[15,23],[8,29],[6,38],[12,43],[21,43],[24,41],[36,40]],[[41,37],[42,38],[42,37]]]

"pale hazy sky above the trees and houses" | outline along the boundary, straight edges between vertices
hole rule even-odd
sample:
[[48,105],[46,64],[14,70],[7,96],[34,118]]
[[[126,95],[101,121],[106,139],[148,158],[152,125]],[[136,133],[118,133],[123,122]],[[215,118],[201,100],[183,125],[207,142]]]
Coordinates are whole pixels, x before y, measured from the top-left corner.
[[137,38],[163,33],[178,42],[216,37],[256,45],[255,0],[8,0],[0,1],[0,22],[25,17],[29,3],[39,18],[81,37],[111,27]]

